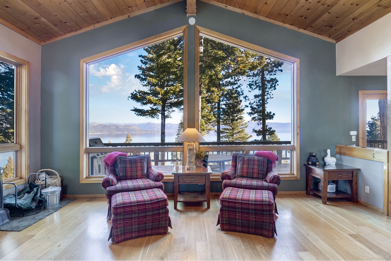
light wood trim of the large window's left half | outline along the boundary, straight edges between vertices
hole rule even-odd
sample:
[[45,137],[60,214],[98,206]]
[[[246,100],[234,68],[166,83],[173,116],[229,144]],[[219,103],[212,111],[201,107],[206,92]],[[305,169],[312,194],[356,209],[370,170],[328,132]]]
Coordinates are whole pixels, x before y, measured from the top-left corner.
[[[100,183],[104,176],[89,176],[90,162],[88,160],[88,153],[110,152],[112,151],[152,151],[154,147],[113,147],[113,148],[88,148],[88,64],[92,62],[99,62],[114,56],[118,56],[124,52],[131,52],[132,50],[141,49],[161,41],[169,40],[171,38],[183,35],[183,122],[187,124],[187,25],[151,36],[149,38],[129,43],[127,45],[95,54],[93,56],[80,60],[80,183]],[[164,148],[164,149],[163,149]],[[160,151],[167,151],[170,147],[159,147]],[[175,147],[178,148],[178,147]],[[181,148],[183,151],[184,147]]]

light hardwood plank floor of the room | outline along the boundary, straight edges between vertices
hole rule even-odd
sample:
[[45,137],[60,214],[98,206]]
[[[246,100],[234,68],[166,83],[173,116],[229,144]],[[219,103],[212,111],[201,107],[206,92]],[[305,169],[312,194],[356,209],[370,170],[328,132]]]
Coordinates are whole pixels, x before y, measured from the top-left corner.
[[218,198],[169,200],[174,229],[120,244],[107,241],[102,198],[79,198],[22,232],[0,231],[1,260],[391,260],[391,219],[362,205],[278,195],[278,236],[216,227]]

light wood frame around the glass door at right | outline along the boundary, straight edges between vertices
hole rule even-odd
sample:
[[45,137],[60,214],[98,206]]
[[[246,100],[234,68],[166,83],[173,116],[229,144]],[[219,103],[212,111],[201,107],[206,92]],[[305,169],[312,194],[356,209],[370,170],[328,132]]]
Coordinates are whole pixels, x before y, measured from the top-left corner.
[[387,100],[387,90],[359,91],[359,147],[369,148],[366,146],[366,101],[380,99]]

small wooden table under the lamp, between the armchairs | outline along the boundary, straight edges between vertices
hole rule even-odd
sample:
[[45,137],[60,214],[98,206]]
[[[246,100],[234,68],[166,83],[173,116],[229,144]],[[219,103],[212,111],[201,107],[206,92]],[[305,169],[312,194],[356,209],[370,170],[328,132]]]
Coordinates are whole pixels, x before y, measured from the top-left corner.
[[[195,167],[195,169],[186,169],[186,166],[174,167],[174,209],[178,202],[205,202],[206,207],[210,208],[210,167]],[[180,184],[205,184],[205,192],[181,192]]]

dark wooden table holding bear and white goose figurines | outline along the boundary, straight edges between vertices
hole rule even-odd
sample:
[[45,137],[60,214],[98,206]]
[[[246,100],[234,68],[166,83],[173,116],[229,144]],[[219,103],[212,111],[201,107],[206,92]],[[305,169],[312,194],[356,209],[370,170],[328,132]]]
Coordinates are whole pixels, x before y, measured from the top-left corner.
[[[304,166],[307,195],[310,195],[311,192],[320,195],[323,204],[326,204],[327,198],[350,198],[353,203],[357,203],[357,171],[360,169],[338,163],[335,166],[326,164],[320,164],[318,166],[304,164]],[[312,177],[320,178],[321,191],[319,189],[311,189]],[[338,185],[338,180],[349,180],[352,194],[337,191],[337,188],[335,189],[337,193],[327,192],[328,180],[334,180],[336,185]]]

